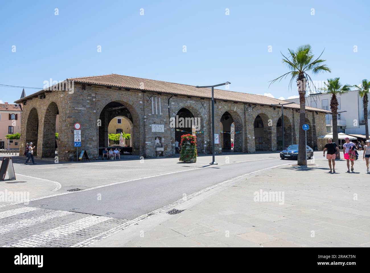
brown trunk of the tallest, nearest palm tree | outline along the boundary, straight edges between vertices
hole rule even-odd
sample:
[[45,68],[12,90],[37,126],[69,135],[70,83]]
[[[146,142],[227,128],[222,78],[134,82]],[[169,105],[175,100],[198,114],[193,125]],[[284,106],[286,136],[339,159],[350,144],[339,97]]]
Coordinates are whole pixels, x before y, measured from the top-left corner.
[[299,166],[305,166],[306,161],[306,136],[302,129],[303,124],[306,123],[306,78],[304,75],[297,77],[297,88],[299,93],[299,141],[298,141],[298,161]]

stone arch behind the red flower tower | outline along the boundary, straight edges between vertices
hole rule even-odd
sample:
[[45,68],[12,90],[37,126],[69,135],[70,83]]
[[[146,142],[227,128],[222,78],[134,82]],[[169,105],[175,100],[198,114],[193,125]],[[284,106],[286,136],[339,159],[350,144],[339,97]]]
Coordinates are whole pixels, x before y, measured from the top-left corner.
[[[202,132],[203,131],[203,133],[195,134],[195,136],[196,136],[196,149],[198,151],[198,154],[204,154],[206,152],[205,151],[205,143],[204,143],[204,141],[205,141],[204,140],[204,134],[205,134],[204,114],[202,113],[202,110],[198,107],[198,105],[196,105],[196,104],[192,104],[192,105],[181,104],[178,107],[176,107],[175,109],[171,110],[170,118],[176,118],[176,115],[178,114],[178,112],[183,108],[185,108],[186,110],[191,112],[192,116],[194,117],[194,120],[197,119],[195,125],[199,129],[196,130],[195,132]],[[170,127],[170,130],[171,130],[171,136],[172,136],[171,137],[171,144],[175,144],[176,128]],[[187,133],[184,133],[184,134],[187,134]],[[180,135],[180,134],[177,134],[177,135]],[[181,143],[181,139],[177,139],[177,140],[178,140],[179,143]],[[174,147],[174,146],[172,146],[172,147]],[[175,148],[173,149],[172,153],[175,154]]]

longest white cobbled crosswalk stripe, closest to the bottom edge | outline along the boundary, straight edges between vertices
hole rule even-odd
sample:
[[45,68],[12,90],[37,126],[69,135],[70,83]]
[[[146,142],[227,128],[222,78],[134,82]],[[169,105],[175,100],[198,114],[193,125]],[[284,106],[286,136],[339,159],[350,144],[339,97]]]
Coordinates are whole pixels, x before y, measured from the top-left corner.
[[[88,216],[83,219],[77,220],[75,222],[68,223],[63,226],[58,226],[57,228],[53,228],[42,232],[40,234],[36,234],[30,236],[25,239],[19,240],[17,243],[11,245],[11,247],[37,247],[42,246],[48,242],[53,240],[57,240],[60,237],[65,235],[77,232],[79,230],[88,228],[90,226],[96,225],[98,223],[102,223],[110,219],[109,217],[104,216]],[[3,246],[9,247],[9,246]]]

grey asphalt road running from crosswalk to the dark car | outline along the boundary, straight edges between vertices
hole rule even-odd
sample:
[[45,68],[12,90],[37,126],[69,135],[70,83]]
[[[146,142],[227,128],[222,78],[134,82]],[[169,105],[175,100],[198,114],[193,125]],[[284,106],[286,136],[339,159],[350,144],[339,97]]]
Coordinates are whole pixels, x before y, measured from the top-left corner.
[[[32,201],[28,206],[134,219],[208,186],[245,173],[294,161],[270,158],[214,165]],[[77,210],[72,210],[77,208]],[[113,212],[113,215],[106,215]]]

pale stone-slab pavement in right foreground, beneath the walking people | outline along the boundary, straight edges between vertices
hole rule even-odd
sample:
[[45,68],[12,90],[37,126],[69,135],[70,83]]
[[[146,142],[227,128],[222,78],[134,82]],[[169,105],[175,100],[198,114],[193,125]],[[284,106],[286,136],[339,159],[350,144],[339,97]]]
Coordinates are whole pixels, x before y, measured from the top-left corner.
[[[154,228],[139,223],[142,237],[132,227],[130,239],[117,233],[95,246],[370,246],[370,176],[364,162],[355,162],[357,173],[346,173],[346,162],[336,161],[336,174],[328,173],[326,160],[315,164],[283,166],[226,185],[196,203],[179,205],[186,210]],[[283,204],[269,198],[256,202],[260,190],[284,193]],[[155,237],[153,229],[160,230]]]

